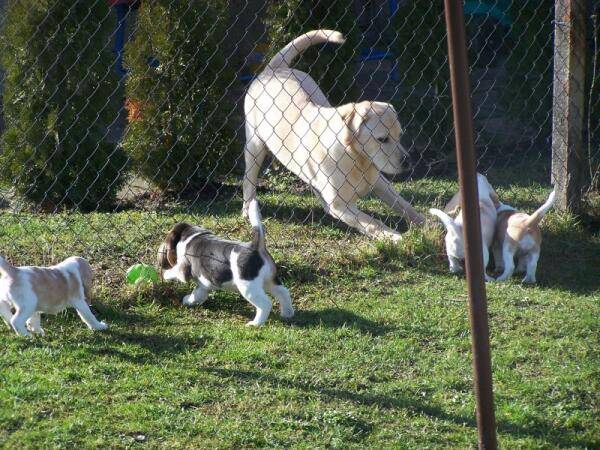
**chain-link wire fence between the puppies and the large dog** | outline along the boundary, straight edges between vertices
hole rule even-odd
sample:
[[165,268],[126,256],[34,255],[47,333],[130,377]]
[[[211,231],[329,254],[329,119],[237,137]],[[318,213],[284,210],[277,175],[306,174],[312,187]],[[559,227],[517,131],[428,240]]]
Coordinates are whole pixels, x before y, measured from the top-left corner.
[[[255,190],[263,216],[289,226],[276,247],[300,224],[395,237],[456,190],[442,2],[7,0],[0,11],[0,233],[17,262],[77,250],[129,264],[180,219],[247,236],[244,194]],[[467,1],[465,14],[479,170],[532,212],[557,170],[553,80],[567,61],[554,58],[555,4]],[[585,21],[573,170],[578,209],[597,217],[593,2]],[[345,42],[313,36],[287,55],[301,53],[290,66],[316,85],[285,55],[269,69],[317,29]]]

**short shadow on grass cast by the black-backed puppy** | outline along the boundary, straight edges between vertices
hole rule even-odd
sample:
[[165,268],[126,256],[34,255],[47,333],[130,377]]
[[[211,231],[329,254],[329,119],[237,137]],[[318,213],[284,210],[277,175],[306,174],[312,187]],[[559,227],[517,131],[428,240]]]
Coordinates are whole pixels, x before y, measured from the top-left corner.
[[298,311],[291,323],[299,328],[341,328],[348,327],[358,330],[362,334],[382,336],[395,327],[374,322],[364,317],[340,308],[327,308],[319,311]]

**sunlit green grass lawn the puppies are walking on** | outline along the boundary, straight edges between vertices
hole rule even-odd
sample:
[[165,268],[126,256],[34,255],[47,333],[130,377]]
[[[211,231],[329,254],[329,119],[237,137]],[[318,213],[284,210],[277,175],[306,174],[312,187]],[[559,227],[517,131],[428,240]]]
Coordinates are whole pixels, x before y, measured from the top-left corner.
[[[425,210],[456,183],[399,187]],[[498,191],[529,212],[549,193],[537,184]],[[180,299],[191,286],[125,285],[126,268],[152,263],[176,220],[247,239],[238,199],[222,192],[158,212],[0,212],[0,251],[13,262],[92,262],[94,310],[110,326],[92,333],[69,311],[44,317],[43,338],[0,328],[0,445],[475,447],[466,285],[447,272],[440,229],[376,244],[324,217],[310,194],[269,189],[260,201],[297,309],[289,323],[274,309],[263,328],[245,327],[254,310],[233,293],[189,309]],[[385,215],[373,200],[362,206]],[[600,235],[556,212],[543,231],[537,286],[487,285],[499,443],[599,448]]]

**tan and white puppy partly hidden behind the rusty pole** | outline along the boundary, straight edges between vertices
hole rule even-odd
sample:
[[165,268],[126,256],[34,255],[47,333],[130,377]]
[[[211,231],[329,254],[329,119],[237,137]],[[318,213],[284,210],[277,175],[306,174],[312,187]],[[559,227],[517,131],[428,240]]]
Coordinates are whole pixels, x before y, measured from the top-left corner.
[[[477,174],[477,190],[479,195],[479,213],[481,220],[481,243],[483,247],[483,267],[487,267],[490,260],[489,248],[494,239],[494,230],[496,226],[496,208],[499,205],[498,195],[490,185],[487,178],[482,174]],[[456,212],[460,207],[460,195],[456,193],[452,200],[446,206],[446,210]],[[431,208],[431,214],[441,219],[446,227],[446,254],[450,263],[450,272],[457,273],[463,270],[462,261],[465,259],[465,244],[463,238],[463,215],[462,211],[453,219],[446,212]],[[454,212],[451,212],[453,214]],[[493,278],[487,273],[485,280],[491,281]]]

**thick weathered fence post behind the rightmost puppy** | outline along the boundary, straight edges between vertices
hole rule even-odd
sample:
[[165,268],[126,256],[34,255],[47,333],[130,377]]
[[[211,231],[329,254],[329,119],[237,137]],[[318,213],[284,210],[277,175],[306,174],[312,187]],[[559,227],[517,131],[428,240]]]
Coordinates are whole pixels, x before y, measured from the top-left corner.
[[554,20],[552,182],[556,206],[581,204],[587,0],[559,0]]

